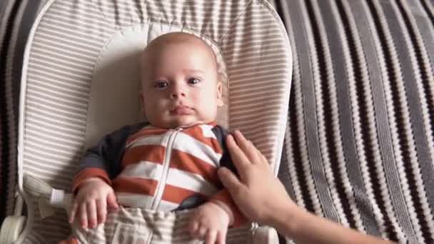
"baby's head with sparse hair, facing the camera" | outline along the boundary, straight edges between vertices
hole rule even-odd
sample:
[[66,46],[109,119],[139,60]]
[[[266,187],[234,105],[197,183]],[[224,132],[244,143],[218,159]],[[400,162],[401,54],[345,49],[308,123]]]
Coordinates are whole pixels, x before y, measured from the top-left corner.
[[141,100],[151,125],[177,128],[214,121],[223,105],[216,56],[181,32],[151,41],[141,56]]

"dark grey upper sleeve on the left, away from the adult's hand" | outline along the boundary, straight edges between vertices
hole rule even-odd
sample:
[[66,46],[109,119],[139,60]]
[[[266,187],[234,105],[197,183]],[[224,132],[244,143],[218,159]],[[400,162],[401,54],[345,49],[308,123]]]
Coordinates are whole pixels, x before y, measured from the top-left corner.
[[126,140],[143,126],[146,126],[146,123],[123,126],[117,131],[103,136],[96,146],[86,150],[81,159],[79,171],[84,168],[101,168],[107,172],[111,179],[115,178],[121,171],[121,160],[125,152]]

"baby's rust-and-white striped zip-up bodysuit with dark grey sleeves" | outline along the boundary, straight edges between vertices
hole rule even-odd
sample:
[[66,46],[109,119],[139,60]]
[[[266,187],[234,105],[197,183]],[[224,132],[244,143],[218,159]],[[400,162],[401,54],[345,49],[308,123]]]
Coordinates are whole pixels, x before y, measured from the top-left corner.
[[[116,131],[89,149],[73,190],[88,178],[100,177],[113,187],[119,204],[166,212],[193,195],[220,200],[232,210],[234,225],[240,224],[243,217],[216,172],[222,165],[233,167],[227,149],[223,151],[223,128],[216,123],[176,129],[137,127],[141,128]],[[121,155],[116,153],[119,149]],[[109,155],[120,160],[108,161]]]

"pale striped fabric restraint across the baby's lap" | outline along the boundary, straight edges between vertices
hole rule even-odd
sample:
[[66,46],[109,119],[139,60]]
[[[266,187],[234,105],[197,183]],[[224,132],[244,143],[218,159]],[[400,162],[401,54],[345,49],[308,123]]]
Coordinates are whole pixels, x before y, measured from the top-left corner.
[[[184,243],[191,240],[188,224],[193,211],[175,213],[154,212],[139,208],[120,208],[107,215],[105,224],[95,229],[73,228],[79,243]],[[117,220],[117,221],[115,221]],[[119,221],[121,220],[121,221]],[[150,224],[151,223],[151,224]],[[228,230],[228,244],[252,243],[253,232],[248,226]]]

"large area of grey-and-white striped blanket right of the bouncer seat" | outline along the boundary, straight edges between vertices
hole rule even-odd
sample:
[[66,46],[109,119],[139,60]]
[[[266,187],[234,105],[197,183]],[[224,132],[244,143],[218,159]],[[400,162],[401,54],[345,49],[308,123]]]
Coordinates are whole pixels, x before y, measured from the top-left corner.
[[294,72],[279,176],[303,208],[434,243],[434,3],[278,1]]

